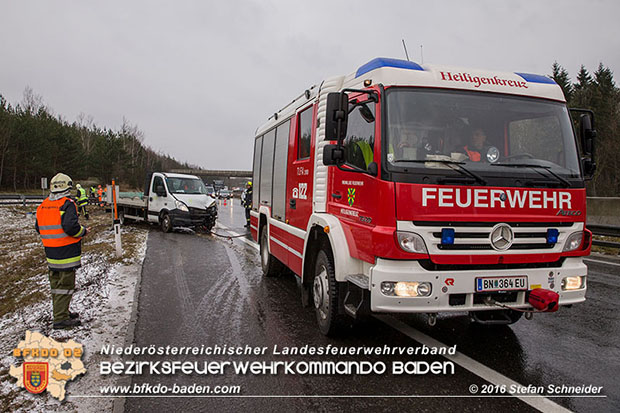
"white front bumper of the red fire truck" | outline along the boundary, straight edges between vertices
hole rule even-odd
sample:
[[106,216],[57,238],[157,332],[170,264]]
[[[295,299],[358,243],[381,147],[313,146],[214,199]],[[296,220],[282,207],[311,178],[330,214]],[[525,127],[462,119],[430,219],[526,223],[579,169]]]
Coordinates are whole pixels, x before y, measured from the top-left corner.
[[[580,257],[566,258],[557,268],[520,268],[502,270],[428,271],[417,261],[377,259],[370,270],[370,308],[375,312],[390,313],[438,313],[497,310],[499,307],[484,304],[480,297],[485,293],[475,292],[477,277],[523,276],[528,278],[528,288],[546,288],[560,295],[559,305],[585,301],[587,281],[583,288],[562,291],[562,278],[587,275],[587,267]],[[429,297],[392,297],[381,293],[383,281],[430,282]],[[488,293],[486,293],[488,294]],[[509,295],[495,295],[494,298],[509,297],[502,303],[515,308],[531,308],[525,299],[526,292]],[[458,298],[458,299],[457,299]]]

